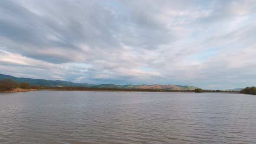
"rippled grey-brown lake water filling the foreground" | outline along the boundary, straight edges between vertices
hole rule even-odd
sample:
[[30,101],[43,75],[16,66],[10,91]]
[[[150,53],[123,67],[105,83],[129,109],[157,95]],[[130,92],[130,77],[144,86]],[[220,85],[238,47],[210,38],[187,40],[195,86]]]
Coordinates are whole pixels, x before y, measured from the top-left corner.
[[185,92],[0,94],[3,144],[255,144],[256,96]]

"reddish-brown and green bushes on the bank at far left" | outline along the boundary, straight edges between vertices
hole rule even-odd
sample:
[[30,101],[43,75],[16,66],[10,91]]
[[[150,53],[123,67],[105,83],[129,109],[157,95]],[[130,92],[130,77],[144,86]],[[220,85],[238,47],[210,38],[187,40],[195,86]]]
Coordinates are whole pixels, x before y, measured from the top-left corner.
[[13,79],[0,80],[0,92],[10,92],[15,88],[30,89],[30,84],[27,82],[17,83]]

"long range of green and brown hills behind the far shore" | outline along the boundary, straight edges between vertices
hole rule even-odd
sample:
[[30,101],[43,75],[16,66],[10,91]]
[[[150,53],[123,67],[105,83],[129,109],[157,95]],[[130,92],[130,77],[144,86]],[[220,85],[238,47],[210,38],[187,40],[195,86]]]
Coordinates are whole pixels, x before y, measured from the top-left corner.
[[98,88],[143,88],[143,89],[170,89],[170,90],[194,90],[197,87],[188,85],[114,85],[114,84],[87,84],[87,83],[74,83],[60,80],[45,80],[45,79],[30,79],[30,78],[17,78],[11,75],[0,74],[0,79],[13,79],[14,81],[28,82],[30,85],[45,85],[45,86],[85,86],[85,87],[98,87]]

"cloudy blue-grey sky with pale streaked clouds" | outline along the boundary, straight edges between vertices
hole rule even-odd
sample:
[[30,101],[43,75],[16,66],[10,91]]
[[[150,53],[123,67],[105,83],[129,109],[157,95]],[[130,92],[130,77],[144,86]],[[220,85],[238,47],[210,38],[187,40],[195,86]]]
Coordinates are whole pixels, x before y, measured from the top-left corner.
[[0,73],[92,84],[256,85],[256,0],[0,0]]

